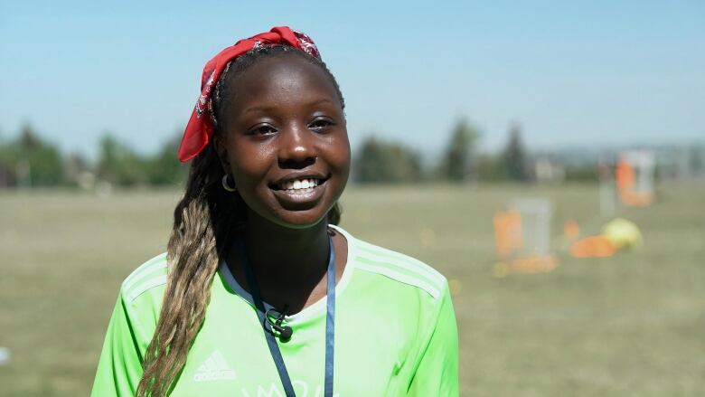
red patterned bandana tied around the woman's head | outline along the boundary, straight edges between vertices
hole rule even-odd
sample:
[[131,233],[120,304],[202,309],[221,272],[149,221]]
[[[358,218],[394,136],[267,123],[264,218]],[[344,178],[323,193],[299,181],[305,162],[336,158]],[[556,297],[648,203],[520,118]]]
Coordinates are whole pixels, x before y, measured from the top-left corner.
[[307,54],[321,59],[315,43],[304,33],[291,30],[287,26],[277,26],[267,33],[259,33],[249,39],[240,40],[235,45],[214,56],[203,66],[201,76],[201,96],[196,101],[191,119],[183,132],[181,146],[179,147],[179,160],[182,163],[191,160],[201,153],[203,147],[208,145],[208,141],[213,135],[213,123],[211,120],[211,93],[213,87],[221,78],[221,73],[228,62],[239,57],[253,48],[263,44],[282,44],[297,48]]

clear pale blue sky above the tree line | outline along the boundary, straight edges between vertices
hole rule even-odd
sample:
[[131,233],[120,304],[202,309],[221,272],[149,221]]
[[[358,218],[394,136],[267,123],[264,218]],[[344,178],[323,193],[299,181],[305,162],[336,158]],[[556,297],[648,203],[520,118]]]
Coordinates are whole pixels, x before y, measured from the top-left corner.
[[[60,4],[61,3],[61,4]],[[312,36],[353,146],[433,156],[457,118],[501,147],[705,137],[705,2],[3,2],[0,137],[31,122],[67,151],[111,131],[142,152],[183,130],[202,66],[287,24]]]

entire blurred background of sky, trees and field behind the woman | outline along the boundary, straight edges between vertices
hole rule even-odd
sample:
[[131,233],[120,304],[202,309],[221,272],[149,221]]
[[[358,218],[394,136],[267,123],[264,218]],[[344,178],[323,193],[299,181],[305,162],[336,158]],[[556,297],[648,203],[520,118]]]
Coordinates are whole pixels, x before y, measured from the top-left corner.
[[705,395],[705,3],[37,1],[0,4],[0,396],[89,393],[204,62],[282,24],[343,90],[343,227],[449,279],[463,395]]

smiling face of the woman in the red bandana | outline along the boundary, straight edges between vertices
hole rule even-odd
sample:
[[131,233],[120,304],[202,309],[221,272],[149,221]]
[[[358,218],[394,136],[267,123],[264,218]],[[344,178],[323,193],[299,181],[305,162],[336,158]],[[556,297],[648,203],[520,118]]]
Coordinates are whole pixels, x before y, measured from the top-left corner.
[[343,194],[350,143],[334,83],[285,55],[234,78],[216,148],[249,211],[290,228],[324,219]]

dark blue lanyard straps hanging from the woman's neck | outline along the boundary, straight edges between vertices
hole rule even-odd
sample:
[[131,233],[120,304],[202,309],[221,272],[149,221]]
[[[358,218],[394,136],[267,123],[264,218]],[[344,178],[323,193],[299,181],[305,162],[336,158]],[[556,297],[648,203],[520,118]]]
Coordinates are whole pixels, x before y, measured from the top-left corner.
[[[335,345],[335,251],[333,249],[333,239],[331,239],[330,236],[328,237],[328,249],[330,250],[330,253],[328,254],[328,272],[326,276],[327,282],[325,288],[327,310],[325,315],[324,397],[333,397],[333,356]],[[259,294],[257,279],[255,279],[255,275],[252,272],[252,267],[249,264],[245,244],[242,239],[238,242],[238,250],[240,251],[240,262],[242,263],[243,268],[245,268],[245,275],[248,278],[248,285],[249,290],[252,293],[252,300],[254,300],[255,307],[257,307],[257,316],[264,327],[269,353],[272,354],[274,364],[277,365],[277,372],[279,373],[281,384],[284,386],[284,392],[286,392],[287,397],[296,397],[296,394],[294,393],[294,386],[291,384],[291,379],[289,378],[289,373],[287,372],[287,365],[284,364],[284,359],[279,351],[277,340],[274,338],[271,327],[270,330],[267,329],[267,312],[265,311],[262,297]]]

